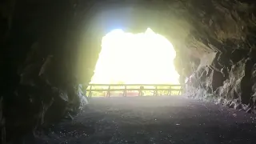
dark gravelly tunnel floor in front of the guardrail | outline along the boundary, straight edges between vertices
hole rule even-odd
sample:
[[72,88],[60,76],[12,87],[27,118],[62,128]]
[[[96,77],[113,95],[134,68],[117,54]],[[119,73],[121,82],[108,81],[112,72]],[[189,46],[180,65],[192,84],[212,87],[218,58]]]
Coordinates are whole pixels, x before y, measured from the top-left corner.
[[37,143],[255,144],[256,115],[181,97],[93,98]]

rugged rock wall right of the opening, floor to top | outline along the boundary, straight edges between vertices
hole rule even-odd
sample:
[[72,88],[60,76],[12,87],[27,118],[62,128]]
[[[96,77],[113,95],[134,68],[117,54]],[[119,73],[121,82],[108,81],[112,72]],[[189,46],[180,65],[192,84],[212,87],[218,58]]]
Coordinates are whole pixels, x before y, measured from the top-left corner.
[[[192,65],[181,66],[183,70],[189,70],[186,74],[180,72],[183,79],[189,78],[185,93],[192,98],[211,100],[254,113],[254,2],[210,3],[212,6],[208,7],[209,10],[199,8],[204,16],[198,19],[195,27],[202,28],[198,27],[200,32],[192,36],[202,42],[201,47],[210,49],[210,54],[216,54],[214,57],[207,55],[209,52],[201,54],[196,58],[198,64],[192,71]],[[186,48],[194,46],[194,43],[198,42],[191,42],[190,39],[190,42],[186,43]],[[200,49],[199,45],[195,47]],[[183,62],[182,55],[178,56],[177,61]],[[190,63],[192,62],[194,61],[190,59]]]

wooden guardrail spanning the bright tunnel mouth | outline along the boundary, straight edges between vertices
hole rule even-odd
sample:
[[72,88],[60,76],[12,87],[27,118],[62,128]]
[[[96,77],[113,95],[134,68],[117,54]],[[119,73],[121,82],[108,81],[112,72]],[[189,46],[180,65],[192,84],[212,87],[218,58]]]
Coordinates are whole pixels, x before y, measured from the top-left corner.
[[[178,91],[178,95],[180,94],[182,90],[181,85],[168,85],[168,84],[89,84],[89,94],[88,97],[92,96],[93,91],[103,92],[106,91],[106,97],[110,97],[111,91],[122,91],[122,96],[127,96],[127,91],[138,91],[138,96],[143,95],[143,91],[153,91],[154,95],[159,95],[158,91],[167,91],[167,95],[171,95],[172,91]],[[94,86],[100,86],[100,87],[107,87],[106,89],[94,89]],[[121,87],[122,88],[113,88],[113,87]],[[129,86],[138,86],[138,88],[129,88]],[[146,88],[146,86],[151,86],[151,88]],[[154,88],[152,88],[154,87]],[[167,88],[162,88],[167,87]],[[176,87],[176,89],[174,89]]]

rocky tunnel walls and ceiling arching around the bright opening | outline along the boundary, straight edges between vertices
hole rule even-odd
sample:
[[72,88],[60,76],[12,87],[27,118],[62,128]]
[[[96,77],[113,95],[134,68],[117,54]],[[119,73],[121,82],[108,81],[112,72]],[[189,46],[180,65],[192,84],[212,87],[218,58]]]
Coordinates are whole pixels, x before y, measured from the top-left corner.
[[0,10],[2,143],[86,110],[102,37],[117,28],[172,42],[182,95],[256,112],[255,2],[4,0]]

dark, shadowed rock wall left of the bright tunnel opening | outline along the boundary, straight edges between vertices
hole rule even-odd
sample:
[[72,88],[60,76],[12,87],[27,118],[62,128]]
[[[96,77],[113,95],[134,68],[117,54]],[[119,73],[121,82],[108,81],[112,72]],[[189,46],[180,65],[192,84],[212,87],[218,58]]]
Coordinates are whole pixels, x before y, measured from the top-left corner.
[[55,2],[1,2],[2,143],[21,142],[31,131],[37,136],[36,130],[72,118],[87,103],[75,73],[73,5]]

